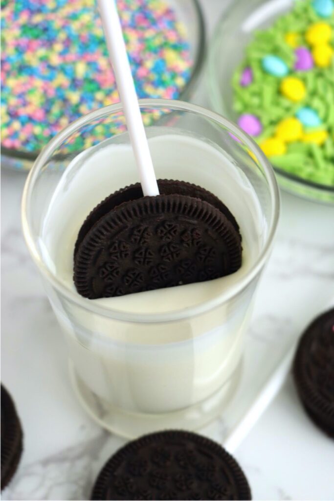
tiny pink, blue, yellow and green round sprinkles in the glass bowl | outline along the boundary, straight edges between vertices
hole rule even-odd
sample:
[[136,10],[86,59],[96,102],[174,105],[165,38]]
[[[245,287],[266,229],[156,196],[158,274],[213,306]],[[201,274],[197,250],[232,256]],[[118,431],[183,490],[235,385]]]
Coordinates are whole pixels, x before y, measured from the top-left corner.
[[[185,27],[164,0],[117,6],[138,96],[178,98],[192,69]],[[6,148],[38,152],[73,120],[119,101],[95,0],[3,1],[1,60]]]

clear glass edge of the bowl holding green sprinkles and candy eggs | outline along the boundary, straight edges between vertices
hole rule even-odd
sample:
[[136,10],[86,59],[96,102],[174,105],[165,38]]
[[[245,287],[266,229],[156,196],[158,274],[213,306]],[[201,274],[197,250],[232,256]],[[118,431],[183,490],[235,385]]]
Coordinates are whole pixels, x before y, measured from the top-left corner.
[[[207,63],[208,95],[214,111],[232,121],[231,81],[236,67],[244,57],[244,49],[253,32],[271,26],[275,19],[291,10],[294,0],[234,1],[223,13],[209,47]],[[273,165],[277,180],[284,190],[318,202],[334,203],[334,186],[317,184],[289,174]]]

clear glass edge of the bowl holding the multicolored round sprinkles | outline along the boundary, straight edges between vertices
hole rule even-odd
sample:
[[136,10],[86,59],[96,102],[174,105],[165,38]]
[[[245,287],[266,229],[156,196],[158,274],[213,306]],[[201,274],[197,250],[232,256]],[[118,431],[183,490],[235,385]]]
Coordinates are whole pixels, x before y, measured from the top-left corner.
[[[178,99],[189,100],[200,75],[205,54],[205,24],[198,0],[165,0],[176,13],[176,18],[186,27],[186,37],[190,45],[193,61],[191,76]],[[150,96],[147,96],[150,97]],[[79,118],[79,117],[78,117]],[[51,139],[51,138],[50,138]],[[28,152],[1,147],[1,163],[4,167],[15,170],[30,170],[40,151]]]

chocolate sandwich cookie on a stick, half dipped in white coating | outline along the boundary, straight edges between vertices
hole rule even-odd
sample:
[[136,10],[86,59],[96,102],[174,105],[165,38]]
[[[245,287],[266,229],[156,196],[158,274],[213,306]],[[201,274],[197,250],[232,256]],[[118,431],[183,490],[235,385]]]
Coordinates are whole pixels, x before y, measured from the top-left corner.
[[[181,181],[117,191],[89,214],[77,238],[74,283],[89,299],[203,282],[241,266],[241,236],[212,193]],[[189,195],[191,193],[191,196]]]

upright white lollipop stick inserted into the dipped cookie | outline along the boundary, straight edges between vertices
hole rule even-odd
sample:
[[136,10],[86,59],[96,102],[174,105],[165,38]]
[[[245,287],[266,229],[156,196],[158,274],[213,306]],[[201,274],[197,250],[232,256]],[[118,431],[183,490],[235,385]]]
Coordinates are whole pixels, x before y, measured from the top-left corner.
[[98,0],[104,34],[145,195],[159,195],[115,0]]

